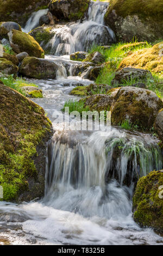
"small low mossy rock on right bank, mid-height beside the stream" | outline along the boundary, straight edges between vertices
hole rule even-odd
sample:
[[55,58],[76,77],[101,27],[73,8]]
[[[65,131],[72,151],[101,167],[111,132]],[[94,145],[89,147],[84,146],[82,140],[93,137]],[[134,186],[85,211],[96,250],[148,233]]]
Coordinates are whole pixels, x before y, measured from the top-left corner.
[[96,84],[91,83],[87,87],[87,95],[93,95],[93,94],[105,94],[111,89],[108,84]]

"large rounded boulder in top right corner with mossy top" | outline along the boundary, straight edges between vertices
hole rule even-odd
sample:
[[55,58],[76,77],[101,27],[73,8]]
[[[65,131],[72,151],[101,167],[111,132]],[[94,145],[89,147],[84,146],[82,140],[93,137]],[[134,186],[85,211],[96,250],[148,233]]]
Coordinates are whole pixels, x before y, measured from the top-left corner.
[[105,23],[118,40],[154,41],[162,38],[163,2],[160,0],[111,0]]

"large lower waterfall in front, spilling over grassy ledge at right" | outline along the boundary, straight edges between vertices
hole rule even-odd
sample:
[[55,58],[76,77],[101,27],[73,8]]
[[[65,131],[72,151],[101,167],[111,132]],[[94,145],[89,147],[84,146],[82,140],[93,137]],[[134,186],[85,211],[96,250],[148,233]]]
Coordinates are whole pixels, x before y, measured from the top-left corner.
[[[157,142],[150,135],[115,128],[107,137],[99,131],[56,130],[48,146],[43,200],[55,209],[85,217],[127,216],[136,178],[162,168]],[[128,186],[123,185],[126,179]]]

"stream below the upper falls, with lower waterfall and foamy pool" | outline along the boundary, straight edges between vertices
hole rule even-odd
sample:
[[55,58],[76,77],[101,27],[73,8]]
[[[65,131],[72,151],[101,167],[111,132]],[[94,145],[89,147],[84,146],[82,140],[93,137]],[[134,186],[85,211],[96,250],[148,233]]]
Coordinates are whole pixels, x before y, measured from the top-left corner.
[[[93,20],[96,13],[89,10],[89,16]],[[65,101],[79,99],[69,95],[72,88],[92,81],[73,76],[74,66],[81,63],[70,57],[46,58],[57,63],[57,80],[30,80],[44,96],[34,102],[53,121],[45,195],[29,203],[0,202],[0,244],[163,245],[163,237],[140,228],[131,211],[137,177],[162,168],[158,140],[118,127],[74,131],[72,125],[65,130],[62,121],[56,124]]]

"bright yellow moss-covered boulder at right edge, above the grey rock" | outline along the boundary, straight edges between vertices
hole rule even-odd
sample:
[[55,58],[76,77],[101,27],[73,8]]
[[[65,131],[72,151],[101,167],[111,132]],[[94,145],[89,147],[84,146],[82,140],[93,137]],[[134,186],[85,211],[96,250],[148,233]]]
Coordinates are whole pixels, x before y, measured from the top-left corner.
[[163,70],[163,41],[154,45],[152,48],[137,50],[133,54],[124,58],[120,63],[120,68],[133,67],[147,69],[154,73]]

